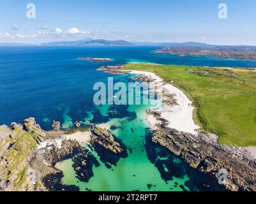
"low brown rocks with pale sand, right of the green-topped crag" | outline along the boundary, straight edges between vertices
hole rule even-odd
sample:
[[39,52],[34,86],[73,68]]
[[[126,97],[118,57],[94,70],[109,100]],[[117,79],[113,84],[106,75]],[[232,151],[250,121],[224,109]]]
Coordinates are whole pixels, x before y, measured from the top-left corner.
[[[52,138],[53,133],[50,134]],[[62,135],[56,134],[55,139],[41,143],[36,150],[31,166],[41,178],[43,186],[47,191],[79,191],[76,186],[61,184],[63,172],[55,168],[55,164],[64,159],[72,158],[76,154],[86,154],[87,150],[80,146],[75,140],[66,140]]]

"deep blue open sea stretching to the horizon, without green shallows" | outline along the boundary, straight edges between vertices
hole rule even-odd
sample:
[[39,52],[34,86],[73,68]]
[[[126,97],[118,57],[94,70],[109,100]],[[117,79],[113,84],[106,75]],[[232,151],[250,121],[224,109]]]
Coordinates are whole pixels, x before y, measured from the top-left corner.
[[[153,54],[160,47],[0,47],[0,124],[33,116],[42,128],[51,120],[84,118],[93,109],[93,84],[106,82],[103,65],[153,62],[193,66],[255,67],[256,61]],[[79,61],[77,57],[109,57],[112,62]],[[111,76],[112,77],[112,76]],[[126,80],[125,77],[115,77]]]

